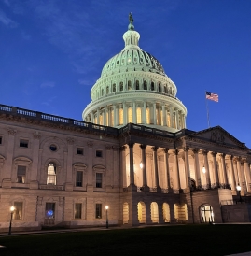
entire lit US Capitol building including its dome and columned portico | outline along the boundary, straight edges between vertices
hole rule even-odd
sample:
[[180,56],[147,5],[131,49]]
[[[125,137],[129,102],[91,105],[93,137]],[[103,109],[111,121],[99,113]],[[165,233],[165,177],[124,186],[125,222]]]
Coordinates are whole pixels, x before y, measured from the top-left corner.
[[250,149],[220,126],[188,130],[139,38],[130,14],[83,121],[0,105],[0,232],[11,215],[14,230],[105,226],[107,213],[109,225],[250,221]]

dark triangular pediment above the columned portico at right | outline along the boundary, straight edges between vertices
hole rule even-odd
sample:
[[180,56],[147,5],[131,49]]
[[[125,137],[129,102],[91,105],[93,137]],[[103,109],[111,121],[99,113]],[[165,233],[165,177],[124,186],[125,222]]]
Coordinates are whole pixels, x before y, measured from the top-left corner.
[[226,130],[220,126],[205,129],[187,136],[190,139],[203,140],[205,142],[214,143],[235,149],[248,149],[244,143],[239,141],[233,135],[230,135]]

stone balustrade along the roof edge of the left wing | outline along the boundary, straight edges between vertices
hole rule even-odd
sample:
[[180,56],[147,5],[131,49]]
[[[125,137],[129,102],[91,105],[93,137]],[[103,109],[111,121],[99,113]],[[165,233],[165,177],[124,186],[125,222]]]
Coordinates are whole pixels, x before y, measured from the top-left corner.
[[11,107],[6,105],[0,105],[0,113],[5,113],[12,116],[21,116],[30,118],[36,121],[49,121],[53,123],[67,124],[70,126],[79,127],[81,129],[88,129],[91,131],[100,131],[102,133],[119,135],[119,130],[117,128],[93,124],[91,122],[77,121],[73,119],[67,119],[59,116],[49,115],[42,112],[32,111],[28,109],[23,109],[19,107]]

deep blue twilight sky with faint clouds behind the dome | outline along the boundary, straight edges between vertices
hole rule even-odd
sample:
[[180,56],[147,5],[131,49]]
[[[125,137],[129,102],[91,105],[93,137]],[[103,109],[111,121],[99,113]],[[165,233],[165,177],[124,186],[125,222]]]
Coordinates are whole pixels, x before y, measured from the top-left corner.
[[140,47],[188,108],[187,128],[220,125],[251,148],[251,1],[0,0],[0,104],[81,120],[92,85],[124,47]]

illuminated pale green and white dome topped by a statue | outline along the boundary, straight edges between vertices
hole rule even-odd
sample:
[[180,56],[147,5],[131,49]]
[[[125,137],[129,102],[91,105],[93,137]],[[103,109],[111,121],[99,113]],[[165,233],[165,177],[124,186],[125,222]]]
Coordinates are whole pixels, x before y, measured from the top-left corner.
[[176,132],[186,128],[187,108],[160,62],[139,48],[140,35],[131,16],[125,47],[106,62],[91,88],[91,103],[83,120],[121,127],[127,123]]

